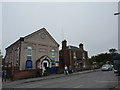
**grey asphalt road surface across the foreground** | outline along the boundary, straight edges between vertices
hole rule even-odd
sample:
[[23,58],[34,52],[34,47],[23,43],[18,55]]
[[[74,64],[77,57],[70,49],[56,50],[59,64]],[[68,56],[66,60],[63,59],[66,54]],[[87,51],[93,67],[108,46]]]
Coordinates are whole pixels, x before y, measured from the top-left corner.
[[112,71],[97,71],[79,75],[27,82],[14,85],[3,85],[3,88],[116,88],[119,76]]

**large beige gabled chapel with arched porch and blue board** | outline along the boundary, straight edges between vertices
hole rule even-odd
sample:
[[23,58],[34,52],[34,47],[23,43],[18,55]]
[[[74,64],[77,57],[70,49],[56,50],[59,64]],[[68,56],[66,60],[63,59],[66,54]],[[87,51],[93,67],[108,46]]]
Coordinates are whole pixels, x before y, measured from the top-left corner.
[[58,67],[59,44],[42,28],[6,48],[6,67],[15,70],[31,70]]

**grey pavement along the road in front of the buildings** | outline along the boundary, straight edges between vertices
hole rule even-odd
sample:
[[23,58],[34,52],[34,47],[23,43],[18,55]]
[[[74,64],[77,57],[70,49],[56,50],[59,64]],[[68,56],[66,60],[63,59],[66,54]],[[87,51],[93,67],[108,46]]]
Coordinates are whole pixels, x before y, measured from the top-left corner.
[[[95,72],[98,70],[100,70],[100,69],[74,72],[68,76],[78,75],[78,74],[83,74],[83,73],[90,73],[90,72]],[[16,80],[16,81],[7,81],[7,82],[3,82],[2,84],[4,87],[4,86],[9,86],[9,85],[15,85],[15,84],[23,84],[23,83],[36,82],[36,81],[42,81],[42,80],[48,80],[48,79],[55,79],[55,78],[60,78],[60,77],[66,77],[66,75],[65,74],[55,74],[55,75],[49,75],[49,76],[45,76],[45,77],[29,78],[29,79],[22,79],[22,80]]]

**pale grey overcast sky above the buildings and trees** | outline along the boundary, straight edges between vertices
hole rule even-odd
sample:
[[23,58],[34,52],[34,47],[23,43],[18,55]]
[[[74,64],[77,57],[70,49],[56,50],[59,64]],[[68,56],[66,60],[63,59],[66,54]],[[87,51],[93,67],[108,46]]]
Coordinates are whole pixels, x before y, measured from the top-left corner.
[[5,48],[42,27],[60,44],[84,44],[89,56],[118,49],[117,2],[3,2],[2,53]]

